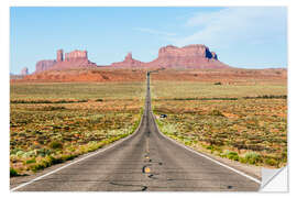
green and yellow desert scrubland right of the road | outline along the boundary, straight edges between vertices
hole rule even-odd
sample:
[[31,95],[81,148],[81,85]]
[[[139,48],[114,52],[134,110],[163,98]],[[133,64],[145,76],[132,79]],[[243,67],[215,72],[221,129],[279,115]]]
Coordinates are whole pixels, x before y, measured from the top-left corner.
[[160,130],[201,152],[278,168],[287,163],[286,84],[152,82]]

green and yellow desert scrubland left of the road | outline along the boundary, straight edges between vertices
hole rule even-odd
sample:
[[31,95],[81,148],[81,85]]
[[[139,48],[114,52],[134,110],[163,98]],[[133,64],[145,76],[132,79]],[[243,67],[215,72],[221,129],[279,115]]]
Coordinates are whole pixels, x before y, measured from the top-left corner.
[[10,176],[32,174],[135,131],[144,82],[12,84]]

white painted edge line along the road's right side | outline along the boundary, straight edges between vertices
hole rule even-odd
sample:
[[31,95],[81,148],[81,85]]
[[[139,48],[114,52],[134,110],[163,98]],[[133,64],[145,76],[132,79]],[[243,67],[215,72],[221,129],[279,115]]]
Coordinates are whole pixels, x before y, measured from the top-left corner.
[[[155,123],[155,125],[156,125],[156,128],[157,128],[157,124],[156,124],[156,121],[155,121],[156,118],[155,118],[155,116],[154,116],[153,112],[151,112],[151,113],[152,113],[152,116],[153,116],[153,118],[154,118],[154,123]],[[252,176],[250,176],[250,175],[248,175],[248,174],[245,174],[245,173],[243,173],[243,172],[241,172],[241,170],[238,170],[238,169],[235,169],[235,168],[233,168],[233,167],[230,167],[230,166],[228,166],[228,165],[226,165],[226,164],[223,164],[223,163],[221,163],[221,162],[219,162],[219,161],[217,161],[217,160],[215,160],[215,158],[211,158],[211,157],[209,157],[209,156],[207,156],[207,155],[205,155],[205,154],[202,154],[202,153],[200,153],[200,152],[198,152],[198,151],[193,150],[191,147],[188,147],[188,146],[186,146],[186,145],[184,145],[184,144],[182,144],[182,143],[179,143],[179,142],[177,142],[177,141],[175,141],[175,140],[168,138],[168,136],[166,136],[165,134],[163,134],[163,133],[158,130],[158,128],[157,128],[157,132],[161,133],[162,136],[164,136],[164,138],[166,138],[167,140],[174,142],[175,144],[177,144],[177,145],[179,145],[179,146],[182,146],[182,147],[184,147],[184,148],[190,151],[191,153],[195,153],[195,154],[200,155],[200,156],[202,156],[202,157],[205,157],[205,158],[207,158],[207,160],[209,160],[209,161],[211,161],[211,162],[215,162],[216,164],[218,164],[218,165],[220,165],[220,166],[223,166],[223,167],[226,167],[226,168],[228,168],[228,169],[231,169],[231,170],[235,172],[237,174],[239,174],[239,175],[241,175],[241,176],[244,176],[244,177],[246,177],[246,178],[249,178],[249,179],[251,179],[251,180],[253,180],[253,182],[255,182],[255,183],[257,183],[257,184],[262,184],[261,180],[258,180],[258,179],[256,179],[256,178],[254,178],[254,177],[252,177]]]

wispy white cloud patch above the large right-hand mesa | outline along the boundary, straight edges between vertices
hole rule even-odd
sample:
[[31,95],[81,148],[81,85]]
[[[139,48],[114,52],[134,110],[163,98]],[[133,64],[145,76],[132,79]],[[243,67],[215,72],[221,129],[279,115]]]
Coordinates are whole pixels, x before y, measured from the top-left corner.
[[286,21],[286,8],[226,8],[195,14],[185,22],[185,29],[194,29],[193,33],[169,40],[178,46],[193,43],[220,47],[231,47],[233,44],[284,43]]

